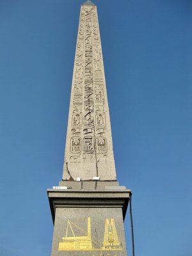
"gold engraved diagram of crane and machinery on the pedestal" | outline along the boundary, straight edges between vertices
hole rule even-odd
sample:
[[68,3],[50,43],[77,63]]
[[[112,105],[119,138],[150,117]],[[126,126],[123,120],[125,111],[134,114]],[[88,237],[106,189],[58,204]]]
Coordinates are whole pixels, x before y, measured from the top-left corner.
[[[91,231],[91,218],[88,216],[87,220],[87,232],[86,236],[76,236],[72,226],[83,232],[83,228],[77,226],[72,221],[68,220],[67,230],[65,237],[62,237],[62,242],[59,243],[59,251],[111,251],[111,250],[123,250],[115,227],[115,220],[106,218],[104,239],[102,245],[98,244],[98,247],[93,247],[92,243],[92,231]],[[70,228],[73,236],[68,236],[68,229]]]

